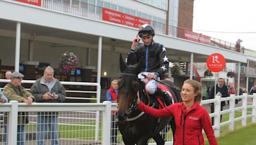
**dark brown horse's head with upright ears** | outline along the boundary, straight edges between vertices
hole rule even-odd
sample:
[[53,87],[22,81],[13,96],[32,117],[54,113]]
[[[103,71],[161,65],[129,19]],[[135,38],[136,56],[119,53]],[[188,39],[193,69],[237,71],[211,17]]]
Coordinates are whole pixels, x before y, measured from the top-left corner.
[[127,115],[131,113],[132,107],[136,103],[136,94],[138,91],[138,73],[142,60],[135,66],[127,66],[122,55],[120,55],[120,71],[121,76],[118,80],[118,121],[124,121]]

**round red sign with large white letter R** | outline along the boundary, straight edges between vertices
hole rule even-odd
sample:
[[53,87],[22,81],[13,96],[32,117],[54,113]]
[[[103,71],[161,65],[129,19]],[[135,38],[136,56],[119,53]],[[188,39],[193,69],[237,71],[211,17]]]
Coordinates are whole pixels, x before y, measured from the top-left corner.
[[226,60],[220,53],[213,53],[207,58],[207,67],[212,72],[219,72],[224,69]]

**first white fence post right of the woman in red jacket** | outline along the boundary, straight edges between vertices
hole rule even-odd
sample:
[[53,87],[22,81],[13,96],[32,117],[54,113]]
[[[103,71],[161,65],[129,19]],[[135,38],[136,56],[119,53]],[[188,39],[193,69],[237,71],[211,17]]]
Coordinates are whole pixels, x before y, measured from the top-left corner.
[[217,99],[217,102],[214,103],[214,113],[217,114],[217,116],[214,117],[214,125],[216,125],[216,128],[214,129],[214,135],[216,137],[220,137],[220,106],[221,106],[221,100],[220,96],[216,95],[215,98]]

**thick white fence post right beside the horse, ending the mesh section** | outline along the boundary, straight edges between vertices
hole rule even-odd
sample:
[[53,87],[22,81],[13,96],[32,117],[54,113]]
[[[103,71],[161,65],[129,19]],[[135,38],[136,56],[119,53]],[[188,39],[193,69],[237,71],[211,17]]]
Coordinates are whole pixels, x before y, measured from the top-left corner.
[[104,101],[106,109],[103,112],[102,120],[102,143],[110,145],[110,132],[111,132],[111,102]]

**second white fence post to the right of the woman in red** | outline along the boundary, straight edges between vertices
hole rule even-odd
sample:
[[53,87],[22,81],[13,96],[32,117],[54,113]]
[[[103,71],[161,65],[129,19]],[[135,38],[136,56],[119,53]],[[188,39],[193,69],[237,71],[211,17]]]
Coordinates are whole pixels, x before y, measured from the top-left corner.
[[230,120],[230,123],[229,123],[229,126],[228,126],[228,129],[231,130],[231,131],[234,131],[234,118],[235,118],[235,103],[236,103],[236,98],[235,98],[235,94],[231,94],[230,97],[231,97],[231,100],[229,100],[229,108],[230,108],[230,113],[229,113],[229,120]]

